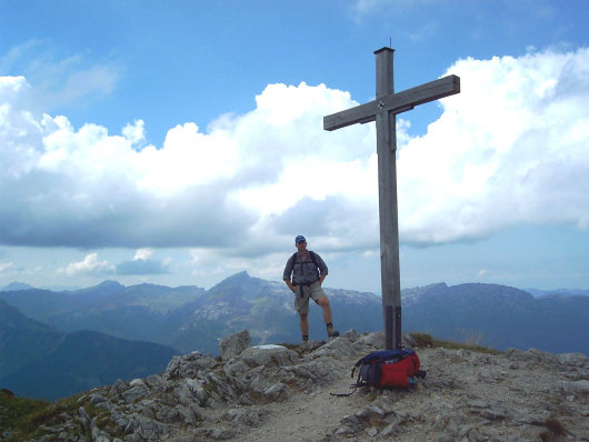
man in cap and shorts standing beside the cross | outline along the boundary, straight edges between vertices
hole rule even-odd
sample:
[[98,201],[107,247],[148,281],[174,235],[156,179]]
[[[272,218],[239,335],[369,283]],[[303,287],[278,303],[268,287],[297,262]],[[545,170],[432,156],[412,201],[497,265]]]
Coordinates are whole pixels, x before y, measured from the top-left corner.
[[307,240],[302,234],[294,239],[294,245],[297,252],[288,260],[282,278],[294,293],[294,309],[299,313],[302,343],[309,342],[309,298],[323,309],[328,336],[339,336],[339,331],[331,322],[329,300],[321,289],[321,283],[327,277],[327,265],[321,257],[307,250]]

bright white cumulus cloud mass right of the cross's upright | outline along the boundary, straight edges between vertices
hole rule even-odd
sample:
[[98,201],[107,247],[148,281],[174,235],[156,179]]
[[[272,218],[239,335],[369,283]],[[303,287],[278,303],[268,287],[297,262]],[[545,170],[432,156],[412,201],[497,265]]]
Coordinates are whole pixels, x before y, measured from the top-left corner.
[[589,225],[589,49],[460,60],[461,93],[399,153],[408,241]]

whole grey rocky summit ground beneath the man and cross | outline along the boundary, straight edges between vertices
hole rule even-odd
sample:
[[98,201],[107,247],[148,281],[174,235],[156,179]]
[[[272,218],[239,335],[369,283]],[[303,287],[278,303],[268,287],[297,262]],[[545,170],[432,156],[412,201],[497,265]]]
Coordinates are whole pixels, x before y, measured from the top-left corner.
[[174,356],[161,374],[93,389],[40,440],[589,441],[580,353],[417,348],[428,373],[417,385],[342,398],[330,393],[350,392],[353,364],[383,348],[382,333],[292,349],[250,342],[242,331],[219,358]]

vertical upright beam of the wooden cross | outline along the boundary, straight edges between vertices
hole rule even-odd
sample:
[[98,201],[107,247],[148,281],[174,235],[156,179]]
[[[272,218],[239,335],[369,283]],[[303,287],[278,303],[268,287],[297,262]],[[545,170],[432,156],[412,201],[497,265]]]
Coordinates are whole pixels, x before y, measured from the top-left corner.
[[[393,50],[382,48],[377,56],[377,102],[395,93]],[[378,199],[380,217],[380,278],[386,348],[401,346],[401,284],[399,270],[399,221],[397,204],[396,114],[385,107],[376,114],[378,153]]]

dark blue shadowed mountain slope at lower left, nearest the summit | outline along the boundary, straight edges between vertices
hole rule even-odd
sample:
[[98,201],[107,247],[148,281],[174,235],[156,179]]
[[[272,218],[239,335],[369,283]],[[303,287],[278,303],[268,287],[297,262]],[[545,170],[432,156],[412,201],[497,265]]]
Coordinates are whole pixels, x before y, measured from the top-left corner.
[[54,400],[162,371],[177,350],[92,331],[63,333],[0,300],[0,388]]

